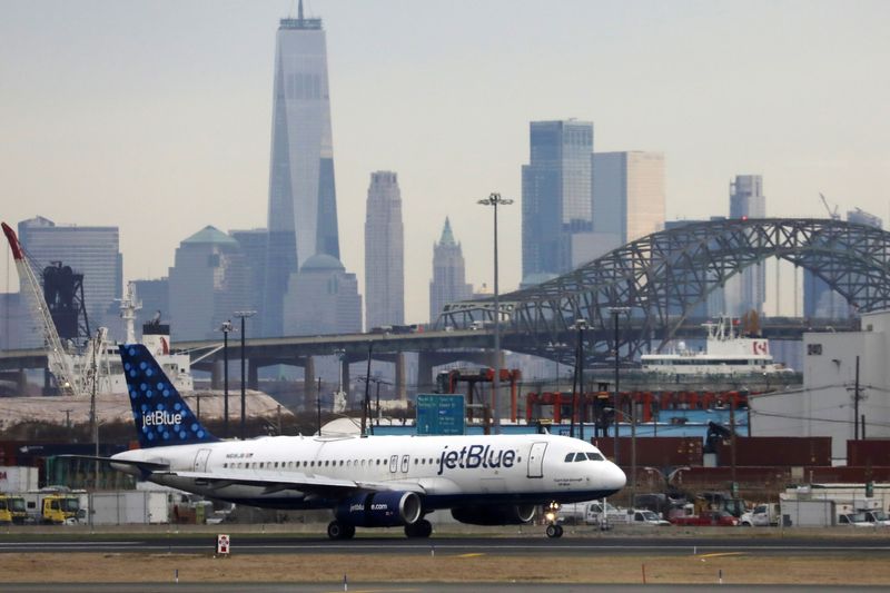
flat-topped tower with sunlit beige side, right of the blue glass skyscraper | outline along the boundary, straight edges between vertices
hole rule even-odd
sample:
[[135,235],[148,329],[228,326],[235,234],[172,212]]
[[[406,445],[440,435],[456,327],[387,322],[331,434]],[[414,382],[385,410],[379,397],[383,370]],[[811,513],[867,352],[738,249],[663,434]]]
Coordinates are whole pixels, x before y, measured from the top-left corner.
[[593,155],[593,228],[619,245],[664,228],[664,155],[641,150]]

